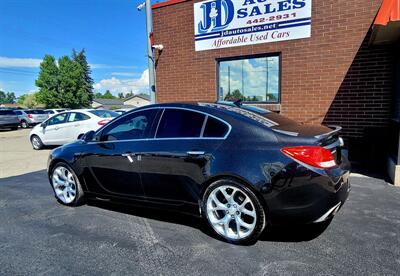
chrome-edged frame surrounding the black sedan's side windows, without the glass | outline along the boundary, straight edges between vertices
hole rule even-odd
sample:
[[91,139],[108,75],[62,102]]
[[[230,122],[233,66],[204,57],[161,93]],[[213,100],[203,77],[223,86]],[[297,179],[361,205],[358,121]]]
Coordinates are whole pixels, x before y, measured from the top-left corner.
[[[150,110],[150,109],[156,109],[156,110],[158,110],[158,112],[156,113],[156,117],[154,118],[154,122],[153,122],[153,125],[152,125],[152,130],[151,130],[151,132],[153,132],[153,128],[155,127],[155,129],[154,129],[154,136],[153,136],[153,137],[151,137],[151,138],[140,138],[140,139],[115,140],[115,141],[100,141],[99,139],[100,139],[100,137],[103,135],[103,130],[106,128],[106,127],[102,127],[102,128],[100,128],[100,129],[98,129],[98,130],[96,131],[96,134],[95,134],[95,139],[96,139],[96,140],[90,141],[89,143],[96,143],[96,144],[98,144],[98,143],[117,143],[117,142],[127,142],[127,141],[160,141],[160,140],[189,140],[189,139],[190,139],[190,140],[226,140],[226,139],[228,138],[229,134],[231,133],[231,130],[232,130],[231,124],[229,124],[229,123],[226,122],[225,120],[223,120],[223,119],[221,119],[221,118],[218,118],[218,117],[216,117],[216,116],[214,116],[214,115],[211,115],[211,114],[209,114],[209,113],[207,113],[207,112],[203,112],[203,111],[196,110],[196,109],[192,109],[192,108],[173,107],[173,106],[155,106],[155,107],[148,107],[148,108],[143,108],[143,109],[135,110],[135,111],[129,112],[129,113],[126,112],[126,113],[120,115],[120,116],[118,117],[118,120],[116,120],[116,121],[113,122],[113,123],[116,123],[116,122],[118,122],[119,120],[122,120],[125,116],[130,116],[130,115],[132,115],[132,114],[134,114],[134,113],[137,113],[137,112],[140,112],[140,111],[145,111],[145,110]],[[169,137],[168,137],[168,138],[156,138],[157,131],[158,131],[158,127],[159,127],[159,125],[160,125],[160,122],[161,122],[161,119],[162,119],[162,115],[164,114],[164,110],[165,110],[165,109],[182,109],[182,110],[189,110],[189,111],[193,111],[193,112],[198,112],[198,113],[204,114],[204,115],[205,115],[205,119],[204,119],[204,122],[205,122],[205,123],[207,123],[208,116],[209,116],[209,117],[212,117],[212,118],[215,118],[215,119],[221,121],[222,123],[224,123],[225,125],[227,125],[227,126],[228,126],[228,131],[226,132],[226,134],[225,134],[224,137],[202,137],[203,132],[204,132],[204,128],[205,128],[205,123],[203,122],[203,127],[202,127],[202,132],[200,133],[200,134],[201,134],[200,137],[193,137],[193,138],[192,138],[192,137],[190,137],[190,138],[187,138],[187,137],[180,137],[180,138],[169,138]]]

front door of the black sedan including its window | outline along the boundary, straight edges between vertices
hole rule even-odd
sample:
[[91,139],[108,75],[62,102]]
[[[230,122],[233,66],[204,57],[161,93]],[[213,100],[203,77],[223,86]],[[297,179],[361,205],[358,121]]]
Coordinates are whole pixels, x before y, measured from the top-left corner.
[[159,109],[127,114],[98,133],[82,153],[90,175],[89,190],[115,196],[143,197],[140,179],[141,143],[154,136],[153,122]]

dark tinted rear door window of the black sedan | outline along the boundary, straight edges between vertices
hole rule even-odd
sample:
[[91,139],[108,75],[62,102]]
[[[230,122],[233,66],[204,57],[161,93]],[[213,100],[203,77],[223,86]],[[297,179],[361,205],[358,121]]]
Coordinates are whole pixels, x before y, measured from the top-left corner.
[[157,138],[199,137],[205,115],[182,109],[165,109]]

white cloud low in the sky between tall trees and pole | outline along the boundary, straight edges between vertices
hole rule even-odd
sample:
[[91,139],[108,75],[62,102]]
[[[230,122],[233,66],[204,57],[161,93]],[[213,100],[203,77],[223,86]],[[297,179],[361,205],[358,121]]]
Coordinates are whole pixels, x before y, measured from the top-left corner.
[[94,85],[94,89],[98,91],[110,90],[113,93],[134,93],[147,92],[149,87],[149,71],[146,69],[140,78],[119,79],[111,77],[111,79],[103,79]]

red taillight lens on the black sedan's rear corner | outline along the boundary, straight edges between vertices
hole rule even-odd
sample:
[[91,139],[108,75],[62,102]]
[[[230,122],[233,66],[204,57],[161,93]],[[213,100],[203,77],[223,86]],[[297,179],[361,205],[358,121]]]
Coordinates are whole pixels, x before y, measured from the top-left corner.
[[328,169],[336,166],[335,158],[332,153],[323,147],[298,146],[283,148],[281,151],[295,160],[316,168]]

